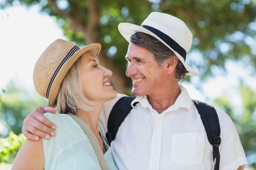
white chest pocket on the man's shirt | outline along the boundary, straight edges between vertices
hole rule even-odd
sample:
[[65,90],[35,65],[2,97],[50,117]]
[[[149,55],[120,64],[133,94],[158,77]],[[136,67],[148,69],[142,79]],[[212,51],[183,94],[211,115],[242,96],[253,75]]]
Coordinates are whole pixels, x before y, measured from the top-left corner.
[[183,165],[196,165],[202,162],[205,147],[204,135],[182,133],[172,136],[171,161]]

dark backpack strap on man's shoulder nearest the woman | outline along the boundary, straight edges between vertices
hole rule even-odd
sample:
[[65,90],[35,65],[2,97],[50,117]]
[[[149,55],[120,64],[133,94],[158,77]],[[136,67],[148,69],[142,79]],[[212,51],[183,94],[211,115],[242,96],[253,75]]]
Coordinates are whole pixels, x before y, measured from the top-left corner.
[[[135,98],[136,98],[135,96],[122,97],[113,106],[110,112],[110,115],[108,117],[108,126],[107,126],[108,132],[106,133],[106,137],[109,145],[111,141],[116,138],[116,135],[118,133],[118,128],[122,124],[123,120],[133,109],[133,107],[131,106],[131,103]],[[138,102],[134,103],[134,106],[137,103]]]

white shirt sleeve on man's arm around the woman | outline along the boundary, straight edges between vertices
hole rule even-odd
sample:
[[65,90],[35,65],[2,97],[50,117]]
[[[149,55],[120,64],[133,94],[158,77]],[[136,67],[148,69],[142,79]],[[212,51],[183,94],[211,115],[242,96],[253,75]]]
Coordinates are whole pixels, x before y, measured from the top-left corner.
[[103,107],[101,109],[99,119],[98,119],[98,129],[99,129],[99,132],[101,133],[101,135],[103,136],[103,138],[105,139],[105,141],[107,141],[106,133],[107,133],[107,123],[108,123],[109,114],[110,114],[113,106],[116,104],[116,102],[118,102],[118,100],[124,96],[126,96],[126,95],[118,94],[115,99],[105,102],[105,104],[103,105]]

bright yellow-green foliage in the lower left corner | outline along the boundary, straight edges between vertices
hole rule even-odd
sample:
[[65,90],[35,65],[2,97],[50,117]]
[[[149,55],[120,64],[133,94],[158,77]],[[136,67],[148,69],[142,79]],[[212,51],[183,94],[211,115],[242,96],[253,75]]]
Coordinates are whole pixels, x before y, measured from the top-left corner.
[[0,164],[13,163],[13,160],[19,151],[25,137],[10,132],[6,138],[0,138]]

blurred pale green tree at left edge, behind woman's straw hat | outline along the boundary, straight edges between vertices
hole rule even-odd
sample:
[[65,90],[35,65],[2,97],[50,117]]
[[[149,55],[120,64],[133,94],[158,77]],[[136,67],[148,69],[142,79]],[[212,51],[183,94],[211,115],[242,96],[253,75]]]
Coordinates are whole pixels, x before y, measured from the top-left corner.
[[13,81],[6,85],[4,91],[0,98],[0,137],[7,136],[10,131],[20,134],[27,114],[35,107],[47,104],[39,94],[29,92]]

